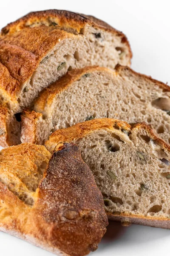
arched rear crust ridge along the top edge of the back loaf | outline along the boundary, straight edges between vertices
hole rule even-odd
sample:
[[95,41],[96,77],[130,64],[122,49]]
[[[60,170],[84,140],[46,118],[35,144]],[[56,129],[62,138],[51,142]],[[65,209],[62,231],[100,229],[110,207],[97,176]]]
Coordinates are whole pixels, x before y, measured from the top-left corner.
[[126,36],[122,32],[108,25],[106,22],[99,20],[91,15],[84,15],[75,12],[56,9],[39,12],[30,12],[27,15],[21,17],[20,19],[11,22],[7,26],[5,26],[1,30],[1,36],[12,34],[33,24],[35,24],[35,26],[41,26],[42,24],[45,26],[51,26],[52,23],[55,23],[55,25],[58,27],[72,28],[77,33],[81,33],[81,29],[83,29],[86,25],[103,29],[111,33],[114,33],[117,36],[120,36],[122,38],[122,42],[127,44],[130,49],[130,45],[127,41]]

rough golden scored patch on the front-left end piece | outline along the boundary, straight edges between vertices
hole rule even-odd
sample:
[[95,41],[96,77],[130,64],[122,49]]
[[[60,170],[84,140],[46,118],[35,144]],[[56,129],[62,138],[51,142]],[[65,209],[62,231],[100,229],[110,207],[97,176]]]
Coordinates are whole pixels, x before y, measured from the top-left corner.
[[0,182],[28,205],[34,204],[35,191],[51,154],[43,146],[23,143],[0,151]]

